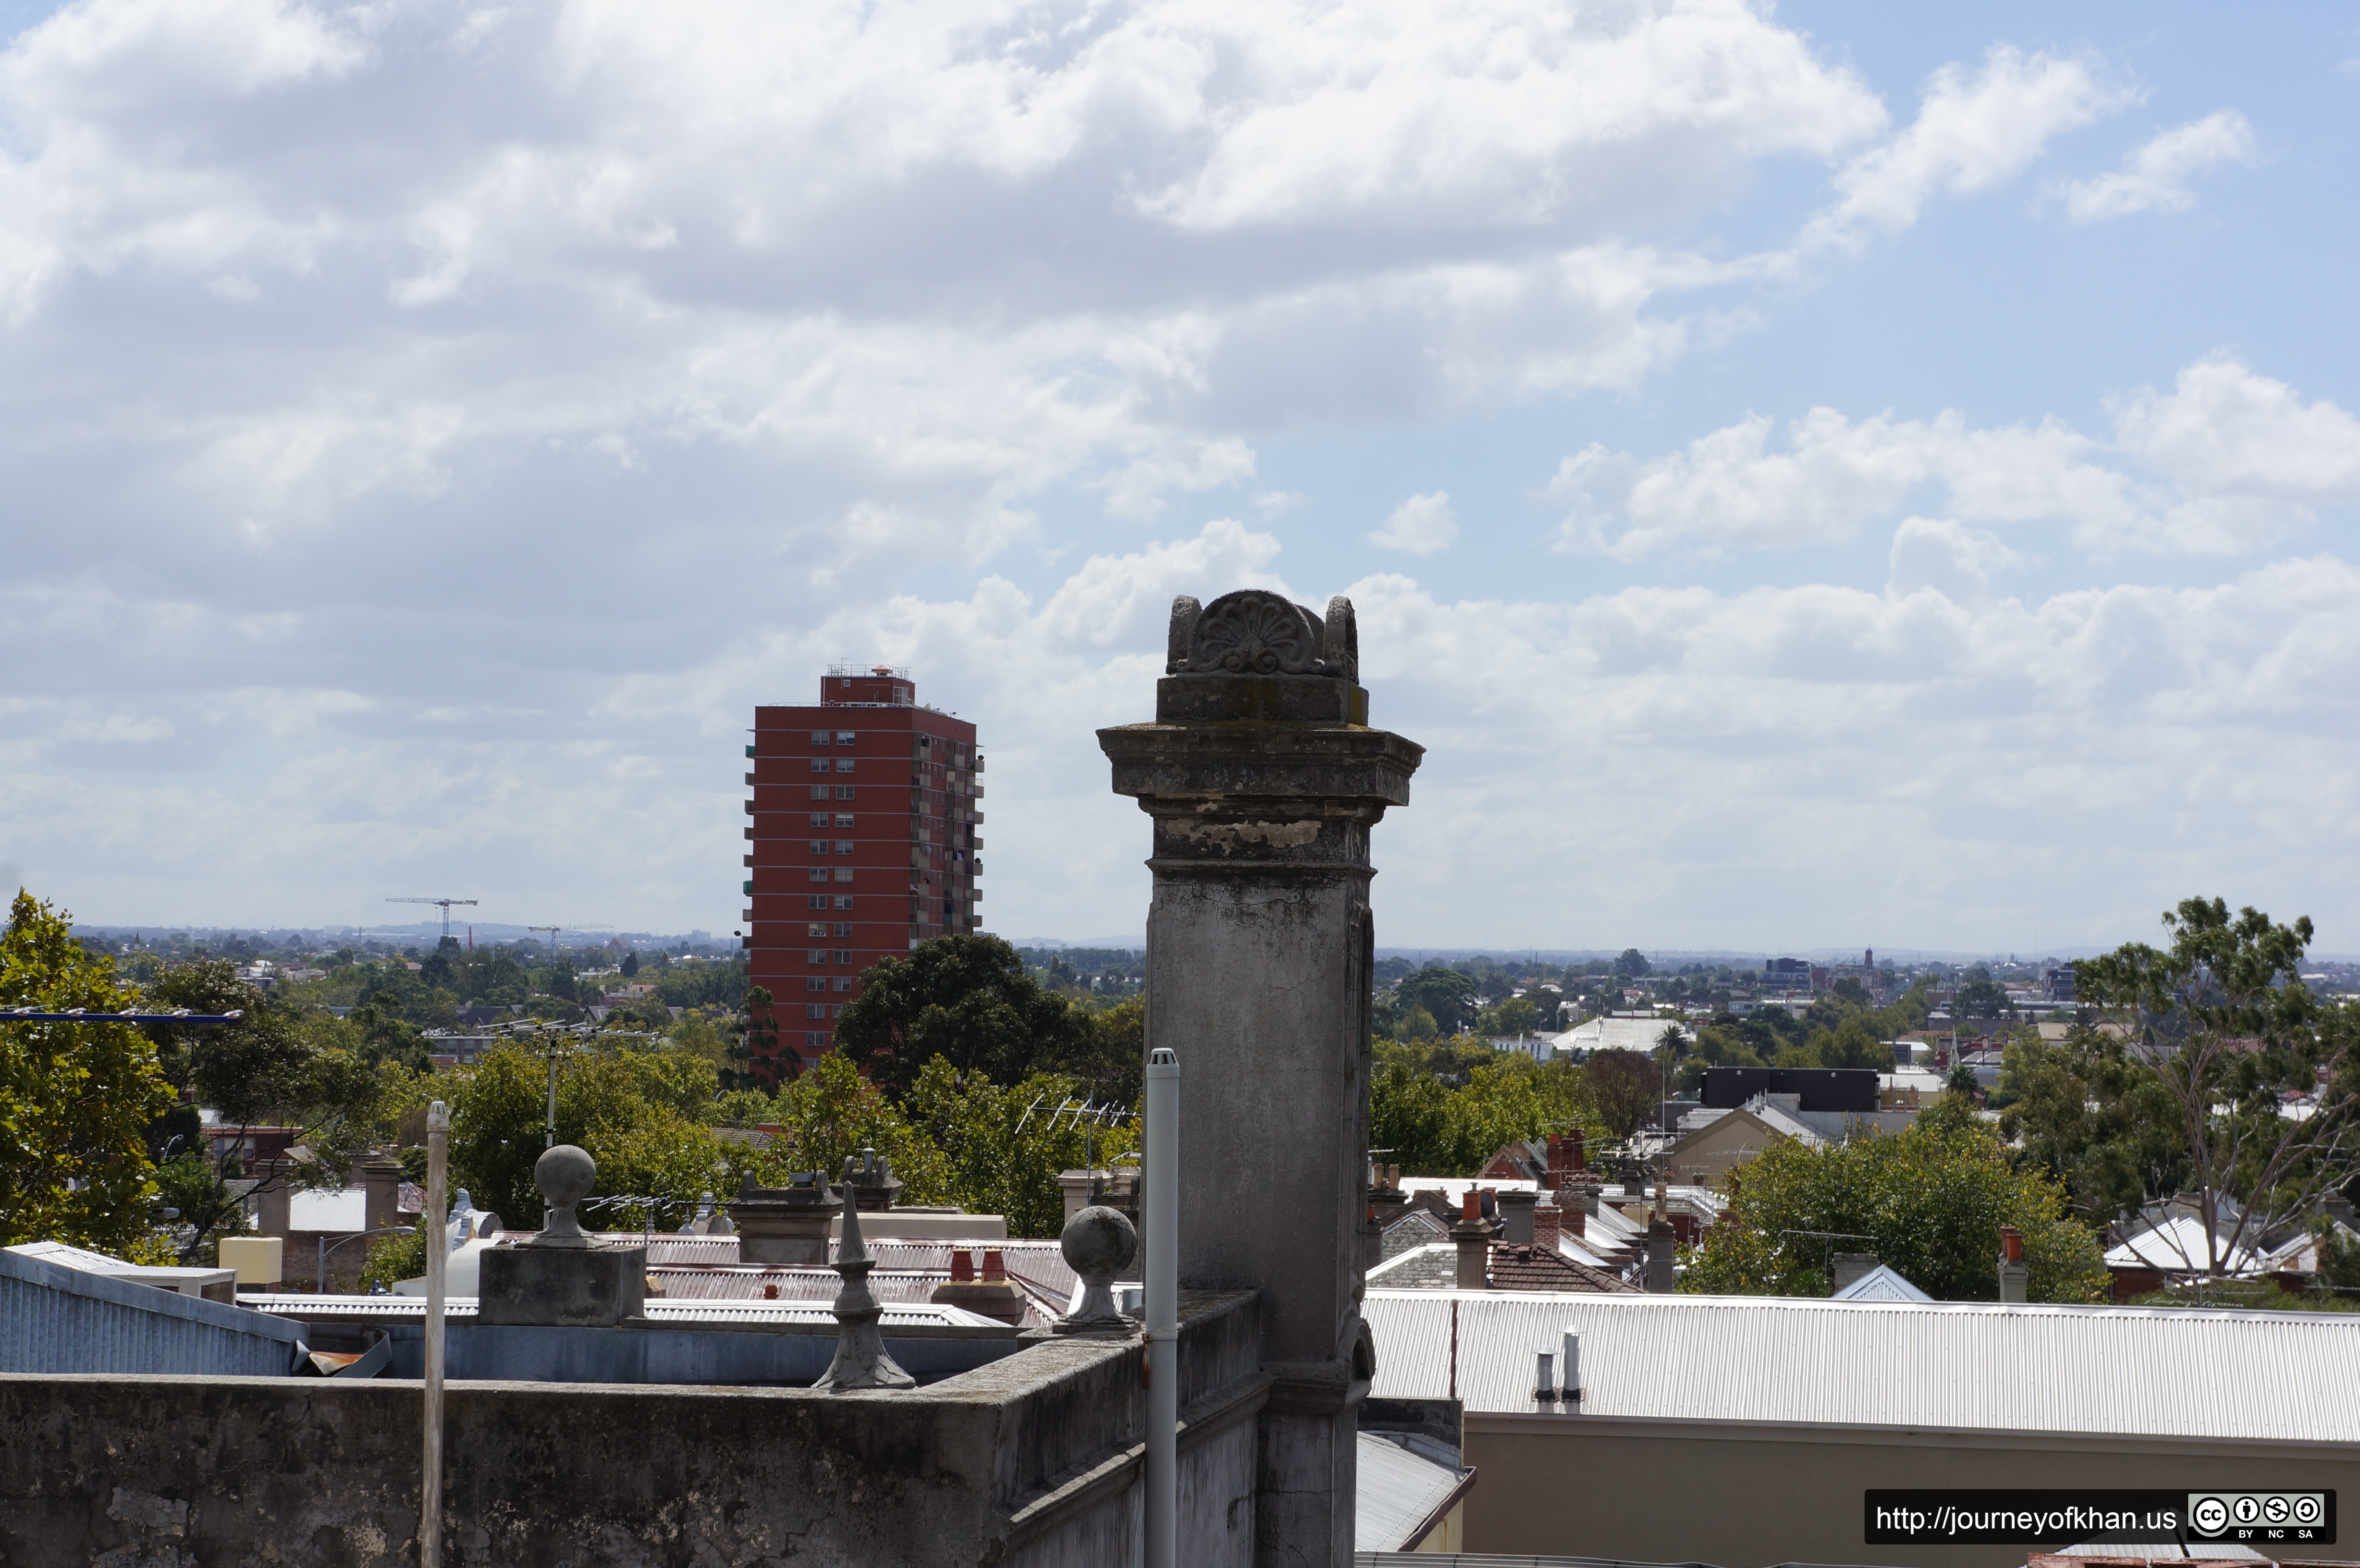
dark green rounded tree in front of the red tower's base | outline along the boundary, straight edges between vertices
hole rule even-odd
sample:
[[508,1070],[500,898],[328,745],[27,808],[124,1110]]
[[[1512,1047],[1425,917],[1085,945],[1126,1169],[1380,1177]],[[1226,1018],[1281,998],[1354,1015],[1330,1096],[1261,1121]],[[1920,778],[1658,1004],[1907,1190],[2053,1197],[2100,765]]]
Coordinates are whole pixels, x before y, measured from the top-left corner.
[[1090,1046],[1088,1013],[1041,989],[1015,947],[984,935],[932,937],[868,966],[835,1023],[835,1053],[892,1093],[906,1093],[932,1056],[1012,1084]]

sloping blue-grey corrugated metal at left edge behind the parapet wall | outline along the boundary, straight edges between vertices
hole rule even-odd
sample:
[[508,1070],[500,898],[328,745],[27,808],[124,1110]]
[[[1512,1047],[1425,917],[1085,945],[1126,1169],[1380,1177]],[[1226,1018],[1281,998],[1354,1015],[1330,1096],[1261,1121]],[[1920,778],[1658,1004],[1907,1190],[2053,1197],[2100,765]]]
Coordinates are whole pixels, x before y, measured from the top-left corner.
[[286,1377],[302,1325],[0,1249],[0,1372]]

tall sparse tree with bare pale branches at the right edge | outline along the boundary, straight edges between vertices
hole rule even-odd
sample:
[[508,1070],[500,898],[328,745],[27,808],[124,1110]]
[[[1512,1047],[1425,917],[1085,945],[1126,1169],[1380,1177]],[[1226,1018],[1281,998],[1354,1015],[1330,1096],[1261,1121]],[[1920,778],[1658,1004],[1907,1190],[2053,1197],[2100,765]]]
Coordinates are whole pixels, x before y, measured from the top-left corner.
[[[2223,1273],[2237,1247],[2301,1221],[2348,1176],[2360,1136],[2360,1060],[2346,1008],[2322,1015],[2301,980],[2310,919],[2277,926],[2225,900],[2164,914],[2171,947],[2126,942],[2084,959],[2077,997],[2122,1039],[2141,1086],[2169,1098],[2178,1181],[2197,1197],[2207,1256]],[[2280,1096],[2325,1084],[2308,1117]],[[2148,1188],[2150,1197],[2169,1190]]]

